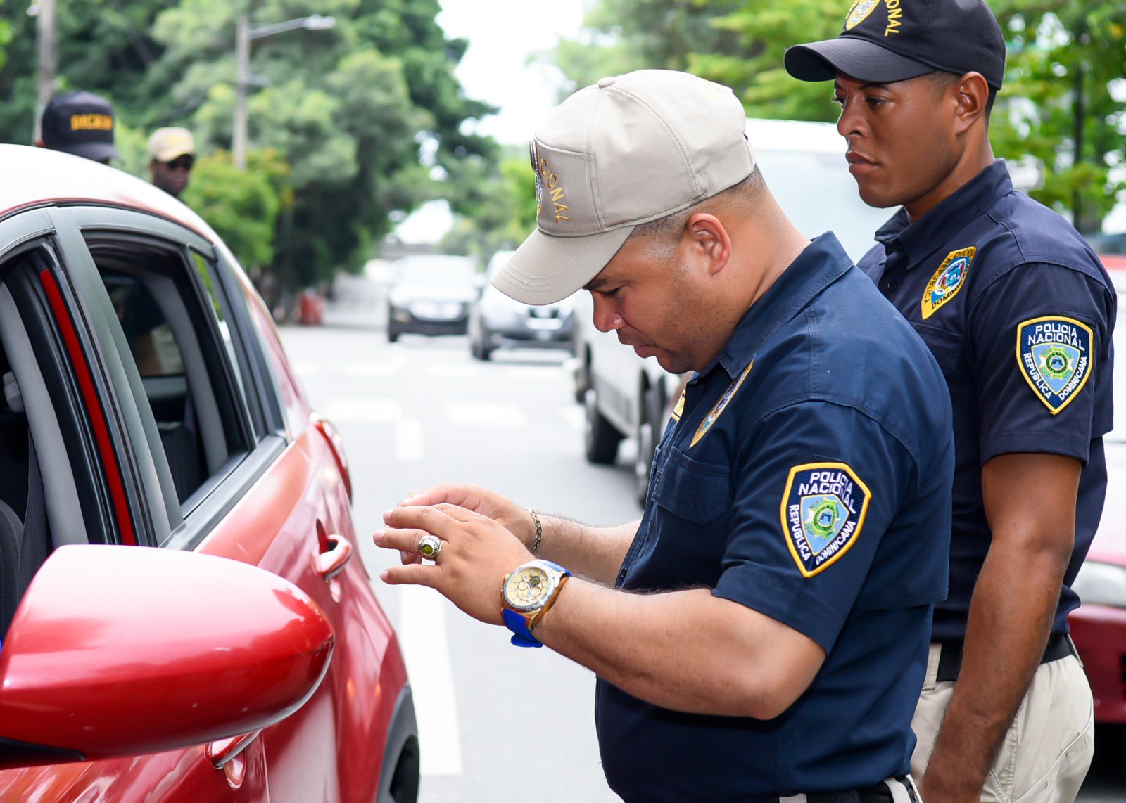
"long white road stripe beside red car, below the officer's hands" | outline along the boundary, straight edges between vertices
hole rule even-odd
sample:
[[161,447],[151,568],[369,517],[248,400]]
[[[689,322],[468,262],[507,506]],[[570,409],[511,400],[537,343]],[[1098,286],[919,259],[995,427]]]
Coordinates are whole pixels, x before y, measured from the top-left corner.
[[399,643],[413,691],[422,775],[461,775],[462,734],[446,634],[449,603],[423,586],[400,586],[399,593]]

